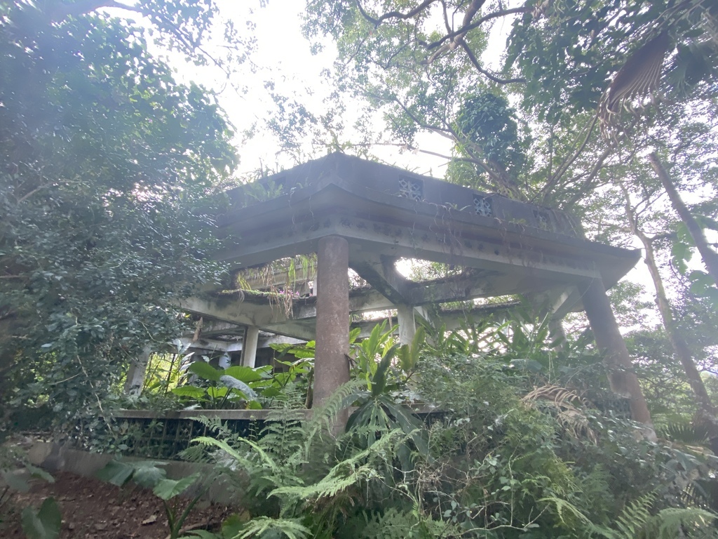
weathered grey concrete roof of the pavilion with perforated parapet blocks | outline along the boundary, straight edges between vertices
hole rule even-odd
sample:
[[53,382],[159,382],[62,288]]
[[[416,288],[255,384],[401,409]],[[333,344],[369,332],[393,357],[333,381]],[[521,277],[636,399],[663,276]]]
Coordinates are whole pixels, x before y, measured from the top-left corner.
[[[314,252],[318,239],[337,234],[350,242],[350,265],[363,267],[362,277],[371,264],[427,259],[475,268],[487,293],[505,295],[596,275],[610,287],[640,259],[583,239],[567,213],[342,154],[228,195],[219,259],[233,268]],[[401,285],[416,303],[421,285]]]

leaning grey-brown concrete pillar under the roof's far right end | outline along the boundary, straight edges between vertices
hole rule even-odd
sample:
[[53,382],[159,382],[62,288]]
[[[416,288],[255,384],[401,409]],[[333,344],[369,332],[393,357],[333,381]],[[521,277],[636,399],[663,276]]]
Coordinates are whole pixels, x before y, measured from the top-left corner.
[[[605,364],[611,389],[618,395],[630,399],[631,417],[635,421],[652,427],[651,413],[643,398],[638,377],[628,356],[623,336],[611,310],[606,289],[600,278],[595,278],[579,286],[584,310],[591,324],[597,346],[605,351]],[[655,435],[654,435],[655,436]]]

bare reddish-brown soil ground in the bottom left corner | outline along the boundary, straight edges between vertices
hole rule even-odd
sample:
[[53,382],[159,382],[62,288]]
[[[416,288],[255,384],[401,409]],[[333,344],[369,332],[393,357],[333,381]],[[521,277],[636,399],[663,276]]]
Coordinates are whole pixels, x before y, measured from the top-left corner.
[[[55,474],[55,483],[36,481],[27,493],[16,493],[0,512],[0,538],[24,538],[20,512],[39,507],[55,497],[62,512],[61,539],[165,539],[169,535],[162,500],[138,487],[112,484],[67,472]],[[186,506],[189,500],[182,499]],[[232,510],[198,503],[185,521],[185,528],[218,530]]]

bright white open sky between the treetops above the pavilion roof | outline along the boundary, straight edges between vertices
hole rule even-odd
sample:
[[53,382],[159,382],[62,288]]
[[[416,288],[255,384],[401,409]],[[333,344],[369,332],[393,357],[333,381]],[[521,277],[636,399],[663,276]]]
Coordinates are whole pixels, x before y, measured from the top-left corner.
[[[219,70],[197,70],[193,66],[188,67],[182,58],[172,63],[180,78],[195,80],[218,92],[220,104],[237,130],[235,143],[241,157],[241,177],[251,176],[261,167],[273,170],[292,167],[297,164],[292,156],[281,153],[279,142],[263,129],[263,122],[275,110],[274,103],[264,90],[264,83],[274,81],[278,93],[286,96],[296,93],[298,100],[307,104],[310,110],[321,112],[322,99],[332,90],[325,78],[322,78],[321,71],[331,68],[335,47],[332,42],[327,42],[320,55],[312,55],[309,41],[302,35],[303,0],[269,0],[264,8],[258,7],[258,0],[218,0],[218,4],[223,15],[233,19],[236,27],[243,28],[247,20],[256,24],[252,33],[257,39],[257,46],[250,63],[245,64],[241,73],[235,75],[231,86]],[[508,22],[504,22],[495,28],[491,40],[495,47],[489,56],[498,59],[498,51],[503,49],[508,26]],[[245,88],[245,91],[238,91],[237,88]],[[349,113],[351,110],[352,107]],[[352,123],[352,119],[344,120],[345,124]],[[246,137],[246,132],[251,129],[253,136]],[[381,129],[379,122],[377,129]],[[450,143],[437,135],[419,137],[419,143],[421,147],[443,155],[450,153]],[[371,153],[386,162],[420,174],[439,178],[444,174],[446,160],[441,157],[401,153],[396,148],[386,146],[373,147]]]

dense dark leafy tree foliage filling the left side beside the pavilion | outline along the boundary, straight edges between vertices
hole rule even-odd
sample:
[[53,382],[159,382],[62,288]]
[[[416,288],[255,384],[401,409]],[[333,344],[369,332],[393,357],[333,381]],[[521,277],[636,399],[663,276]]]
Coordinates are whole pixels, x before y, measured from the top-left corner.
[[236,157],[141,30],[48,13],[0,12],[0,395],[70,420],[217,275],[204,199]]

